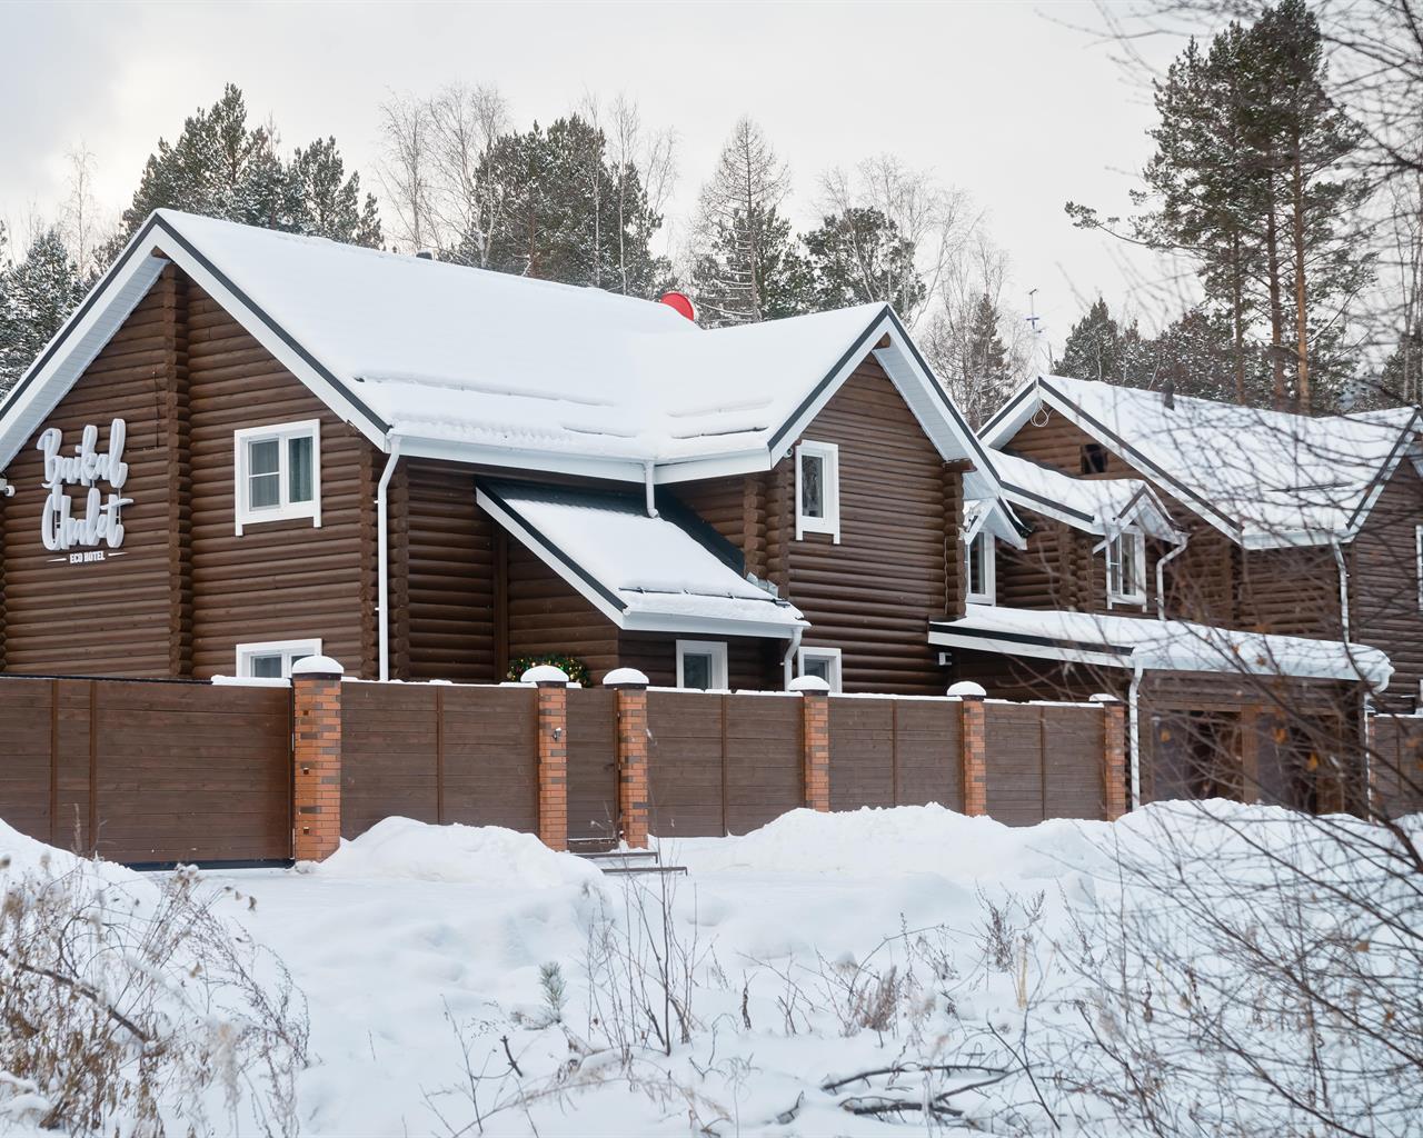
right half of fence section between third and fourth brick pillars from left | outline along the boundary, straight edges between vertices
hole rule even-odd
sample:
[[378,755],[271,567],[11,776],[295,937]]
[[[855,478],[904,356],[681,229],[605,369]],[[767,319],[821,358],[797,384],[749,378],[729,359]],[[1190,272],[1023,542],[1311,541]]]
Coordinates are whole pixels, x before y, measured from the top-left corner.
[[804,710],[797,696],[723,698],[726,828],[747,834],[804,805]]

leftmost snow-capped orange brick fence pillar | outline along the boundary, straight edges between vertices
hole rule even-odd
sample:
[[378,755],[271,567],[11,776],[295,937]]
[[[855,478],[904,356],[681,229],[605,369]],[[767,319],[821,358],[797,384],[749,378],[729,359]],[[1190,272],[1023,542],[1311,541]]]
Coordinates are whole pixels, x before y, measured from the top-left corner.
[[342,842],[342,676],[329,656],[292,666],[292,856],[319,862]]

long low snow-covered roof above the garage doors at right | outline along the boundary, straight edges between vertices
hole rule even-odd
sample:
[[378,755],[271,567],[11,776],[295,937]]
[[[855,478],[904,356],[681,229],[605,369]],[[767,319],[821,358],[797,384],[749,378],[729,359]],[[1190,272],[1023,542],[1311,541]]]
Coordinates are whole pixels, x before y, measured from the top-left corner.
[[1362,644],[1235,632],[1188,620],[992,605],[969,605],[958,620],[931,622],[929,643],[1148,671],[1365,680],[1379,691],[1393,674],[1387,656]]

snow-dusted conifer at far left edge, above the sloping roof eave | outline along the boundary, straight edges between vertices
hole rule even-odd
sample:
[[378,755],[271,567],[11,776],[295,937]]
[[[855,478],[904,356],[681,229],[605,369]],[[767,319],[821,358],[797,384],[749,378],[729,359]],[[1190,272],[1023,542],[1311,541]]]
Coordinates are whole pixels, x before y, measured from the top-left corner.
[[[3,236],[0,230],[0,257]],[[84,280],[58,228],[43,230],[24,260],[0,269],[0,391],[26,373],[83,296]]]

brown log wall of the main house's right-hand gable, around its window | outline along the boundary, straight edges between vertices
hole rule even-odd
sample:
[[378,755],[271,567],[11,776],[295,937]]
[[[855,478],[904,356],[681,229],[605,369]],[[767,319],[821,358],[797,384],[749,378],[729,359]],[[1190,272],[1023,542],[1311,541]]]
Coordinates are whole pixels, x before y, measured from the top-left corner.
[[[794,541],[794,451],[777,464],[787,536],[788,596],[811,627],[810,647],[838,647],[845,691],[929,696],[943,673],[928,623],[945,615],[943,462],[894,384],[862,364],[805,428],[804,440],[840,447],[840,529]],[[774,496],[774,495],[773,495]],[[776,539],[771,539],[776,546]]]

